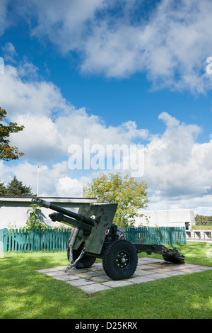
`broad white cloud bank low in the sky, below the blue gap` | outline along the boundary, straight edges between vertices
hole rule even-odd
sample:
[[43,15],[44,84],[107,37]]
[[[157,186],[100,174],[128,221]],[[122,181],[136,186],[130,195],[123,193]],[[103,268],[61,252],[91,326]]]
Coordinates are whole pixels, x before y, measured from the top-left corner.
[[71,106],[51,82],[25,81],[22,73],[21,67],[6,66],[0,81],[1,107],[6,108],[9,119],[25,125],[22,132],[11,135],[11,143],[25,152],[25,157],[15,164],[1,162],[0,182],[7,184],[15,174],[23,184],[32,186],[35,193],[39,165],[40,195],[81,196],[83,186],[93,177],[93,170],[90,173],[81,170],[76,176],[69,169],[69,145],[83,146],[85,138],[90,139],[90,145],[103,147],[148,140],[141,179],[148,182],[151,205],[161,208],[192,205],[201,211],[210,208],[212,139],[199,144],[196,140],[201,132],[199,126],[160,113],[158,121],[166,125],[162,135],[151,135],[132,121],[107,127],[100,117],[88,115],[85,108],[77,110]]

